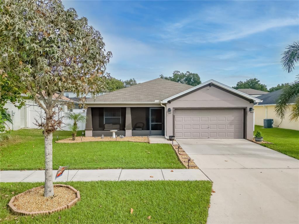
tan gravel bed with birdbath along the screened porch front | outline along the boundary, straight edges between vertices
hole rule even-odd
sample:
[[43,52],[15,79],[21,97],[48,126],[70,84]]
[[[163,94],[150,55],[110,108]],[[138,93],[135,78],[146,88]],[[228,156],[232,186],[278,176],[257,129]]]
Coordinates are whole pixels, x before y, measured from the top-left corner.
[[72,138],[65,138],[58,141],[55,141],[56,143],[78,143],[78,142],[97,142],[97,141],[129,141],[129,142],[148,142],[147,137],[145,136],[132,136],[132,137],[124,137],[124,138],[112,138],[112,137],[82,137],[77,136],[76,140],[72,140]]

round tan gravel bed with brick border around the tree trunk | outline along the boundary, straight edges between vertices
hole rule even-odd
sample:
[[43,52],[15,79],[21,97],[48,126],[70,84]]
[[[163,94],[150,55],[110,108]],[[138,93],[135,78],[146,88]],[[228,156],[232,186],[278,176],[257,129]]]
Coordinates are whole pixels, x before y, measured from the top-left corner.
[[79,191],[69,185],[55,184],[53,197],[44,197],[44,186],[39,186],[12,197],[8,206],[14,214],[34,216],[71,208],[79,200]]

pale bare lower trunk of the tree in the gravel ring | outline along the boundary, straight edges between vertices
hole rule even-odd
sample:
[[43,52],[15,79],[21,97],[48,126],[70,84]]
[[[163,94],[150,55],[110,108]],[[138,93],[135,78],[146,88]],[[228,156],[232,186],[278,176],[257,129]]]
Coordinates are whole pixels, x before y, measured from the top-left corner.
[[53,133],[45,133],[45,197],[54,195],[53,188],[53,162],[52,162]]

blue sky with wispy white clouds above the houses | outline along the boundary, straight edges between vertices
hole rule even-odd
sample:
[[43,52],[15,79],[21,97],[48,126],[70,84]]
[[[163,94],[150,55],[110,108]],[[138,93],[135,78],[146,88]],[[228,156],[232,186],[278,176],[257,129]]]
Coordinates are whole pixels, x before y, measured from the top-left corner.
[[113,57],[107,72],[138,82],[195,72],[233,86],[291,82],[281,53],[299,40],[299,1],[63,1],[88,19]]

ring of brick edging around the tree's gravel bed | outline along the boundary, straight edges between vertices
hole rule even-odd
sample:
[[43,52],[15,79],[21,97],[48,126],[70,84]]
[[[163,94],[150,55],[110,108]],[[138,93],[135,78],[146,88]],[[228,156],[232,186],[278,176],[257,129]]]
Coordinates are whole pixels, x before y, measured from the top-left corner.
[[59,208],[55,208],[55,209],[52,209],[50,211],[34,211],[34,212],[28,212],[28,211],[22,211],[22,210],[18,210],[14,205],[13,205],[13,202],[15,201],[15,199],[18,199],[18,197],[26,194],[26,193],[29,193],[31,191],[35,191],[35,190],[39,190],[39,189],[43,189],[44,186],[39,186],[39,187],[35,187],[35,188],[32,188],[30,190],[27,190],[27,191],[24,191],[23,193],[21,194],[18,194],[14,197],[12,197],[8,203],[8,207],[10,209],[10,211],[15,214],[15,215],[30,215],[30,216],[35,216],[35,215],[48,215],[48,214],[52,214],[53,212],[57,212],[57,211],[62,211],[62,210],[65,210],[65,209],[68,209],[68,208],[71,208],[72,206],[74,206],[78,201],[80,201],[81,197],[80,197],[80,192],[77,191],[76,189],[74,189],[72,186],[69,186],[69,185],[65,185],[65,184],[54,184],[53,185],[54,187],[65,187],[65,188],[68,188],[68,189],[71,189],[72,191],[74,191],[76,194],[77,194],[77,197],[72,200],[70,203],[68,203],[67,205],[65,206],[62,206],[62,207],[59,207]]

